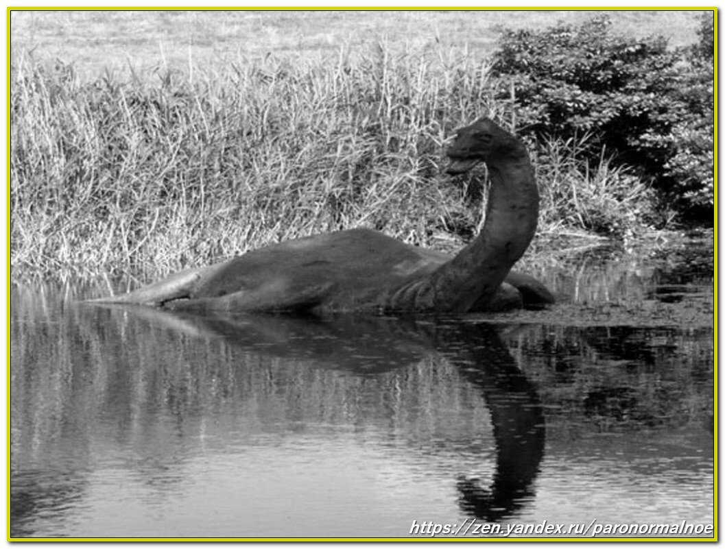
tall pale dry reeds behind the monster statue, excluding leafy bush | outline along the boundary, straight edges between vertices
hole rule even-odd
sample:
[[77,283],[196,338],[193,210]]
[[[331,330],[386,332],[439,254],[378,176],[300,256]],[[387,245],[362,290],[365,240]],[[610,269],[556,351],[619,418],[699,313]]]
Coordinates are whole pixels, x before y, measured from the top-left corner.
[[[484,193],[442,176],[444,141],[481,114],[513,120],[510,104],[491,99],[488,73],[465,50],[393,54],[382,42],[326,61],[267,57],[94,81],[18,57],[12,278],[148,280],[350,227],[456,246],[481,225]],[[568,158],[560,180],[586,179]],[[539,164],[544,177],[556,171]],[[587,228],[557,207],[542,213],[544,230]]]

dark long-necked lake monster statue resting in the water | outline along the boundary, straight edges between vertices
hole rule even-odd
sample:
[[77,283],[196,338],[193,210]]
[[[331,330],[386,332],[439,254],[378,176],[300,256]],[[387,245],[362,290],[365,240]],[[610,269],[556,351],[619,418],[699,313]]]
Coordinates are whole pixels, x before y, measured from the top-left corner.
[[491,180],[479,235],[455,256],[351,229],[288,240],[189,269],[96,303],[187,311],[410,314],[497,311],[552,303],[511,267],[537,228],[539,192],[523,143],[488,118],[457,131],[452,175],[485,162]]

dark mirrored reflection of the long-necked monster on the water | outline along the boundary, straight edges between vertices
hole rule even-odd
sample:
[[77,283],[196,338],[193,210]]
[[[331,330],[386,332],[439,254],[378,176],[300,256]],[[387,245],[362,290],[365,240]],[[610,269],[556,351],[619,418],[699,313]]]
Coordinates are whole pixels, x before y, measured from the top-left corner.
[[[480,519],[499,521],[513,516],[534,496],[531,482],[544,454],[544,414],[536,390],[490,324],[359,317],[199,317],[153,309],[138,313],[173,322],[177,329],[194,335],[223,337],[248,352],[310,359],[360,374],[382,374],[438,354],[481,391],[497,449],[489,487],[481,486],[479,479],[459,477],[460,507]],[[365,356],[360,355],[361,349],[368,350]]]

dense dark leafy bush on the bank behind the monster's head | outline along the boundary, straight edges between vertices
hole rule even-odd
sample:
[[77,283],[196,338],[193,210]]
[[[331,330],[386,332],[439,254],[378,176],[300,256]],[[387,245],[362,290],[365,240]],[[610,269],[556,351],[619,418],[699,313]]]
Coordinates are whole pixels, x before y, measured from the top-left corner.
[[[707,14],[706,14],[707,15]],[[610,33],[607,16],[573,28],[505,30],[494,54],[498,99],[515,97],[521,131],[565,141],[591,134],[661,191],[665,204],[703,214],[713,206],[713,67],[708,25],[700,43],[668,50],[664,38]],[[512,93],[513,91],[513,93]]]

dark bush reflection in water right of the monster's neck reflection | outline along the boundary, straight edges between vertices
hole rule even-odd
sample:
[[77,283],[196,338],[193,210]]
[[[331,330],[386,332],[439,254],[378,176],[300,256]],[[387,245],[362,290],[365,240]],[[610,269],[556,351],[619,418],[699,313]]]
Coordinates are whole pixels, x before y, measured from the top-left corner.
[[547,324],[505,341],[548,406],[552,436],[703,430],[713,413],[710,327]]

